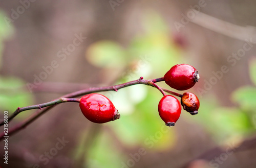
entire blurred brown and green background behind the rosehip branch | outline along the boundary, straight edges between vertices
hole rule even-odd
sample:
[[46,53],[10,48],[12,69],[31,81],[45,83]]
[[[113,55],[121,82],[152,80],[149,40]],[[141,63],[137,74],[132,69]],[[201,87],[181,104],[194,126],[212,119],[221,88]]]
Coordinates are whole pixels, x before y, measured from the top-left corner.
[[[188,91],[201,106],[195,116],[182,110],[168,128],[157,111],[162,95],[149,86],[101,92],[121,113],[102,125],[77,103],[60,104],[9,137],[8,165],[1,159],[0,166],[256,167],[255,5],[1,0],[1,118],[72,91],[160,78],[177,63],[199,71]],[[34,112],[20,113],[9,128]],[[67,143],[56,150],[59,139]]]

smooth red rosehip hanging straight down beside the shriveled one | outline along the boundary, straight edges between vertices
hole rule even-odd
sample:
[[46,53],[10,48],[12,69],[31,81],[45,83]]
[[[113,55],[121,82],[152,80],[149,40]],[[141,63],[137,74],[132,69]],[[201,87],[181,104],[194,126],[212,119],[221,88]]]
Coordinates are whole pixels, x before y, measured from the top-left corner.
[[158,112],[166,126],[174,126],[180,117],[180,102],[172,95],[165,95],[158,104]]

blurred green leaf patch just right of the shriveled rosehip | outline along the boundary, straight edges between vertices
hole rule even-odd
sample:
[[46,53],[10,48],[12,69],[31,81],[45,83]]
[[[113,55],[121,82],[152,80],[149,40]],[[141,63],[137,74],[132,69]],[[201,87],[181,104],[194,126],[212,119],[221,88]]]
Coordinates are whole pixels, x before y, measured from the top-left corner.
[[236,107],[222,107],[212,95],[200,100],[196,116],[184,115],[187,122],[203,125],[219,143],[227,139],[243,137],[253,130],[250,115]]

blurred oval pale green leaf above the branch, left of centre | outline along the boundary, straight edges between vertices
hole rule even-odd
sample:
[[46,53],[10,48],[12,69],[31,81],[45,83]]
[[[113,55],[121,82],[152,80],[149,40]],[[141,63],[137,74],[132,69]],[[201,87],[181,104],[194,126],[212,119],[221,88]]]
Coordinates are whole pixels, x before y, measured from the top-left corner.
[[98,41],[88,47],[86,58],[97,67],[122,67],[125,65],[123,48],[113,41]]

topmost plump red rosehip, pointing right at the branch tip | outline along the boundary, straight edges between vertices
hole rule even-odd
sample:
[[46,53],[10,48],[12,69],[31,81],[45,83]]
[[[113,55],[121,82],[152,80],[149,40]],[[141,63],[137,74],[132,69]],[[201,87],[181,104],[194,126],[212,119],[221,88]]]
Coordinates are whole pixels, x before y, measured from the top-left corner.
[[164,75],[165,83],[177,90],[190,89],[198,80],[199,74],[197,69],[188,64],[174,65]]

